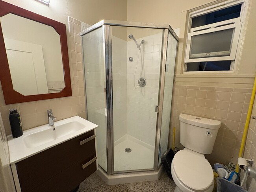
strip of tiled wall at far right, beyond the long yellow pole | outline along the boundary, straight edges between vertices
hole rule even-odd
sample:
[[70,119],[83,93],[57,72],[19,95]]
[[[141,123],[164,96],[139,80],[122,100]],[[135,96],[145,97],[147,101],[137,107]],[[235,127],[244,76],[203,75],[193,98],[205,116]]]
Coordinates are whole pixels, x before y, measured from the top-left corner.
[[[252,115],[250,117],[250,124],[248,129],[248,135],[245,145],[245,152],[243,157],[246,159],[252,159],[254,162],[252,167],[256,169],[256,120],[252,118],[252,116],[256,116],[256,100],[254,98],[254,105],[252,108]],[[242,172],[242,171],[241,171]],[[241,174],[241,178],[243,178],[243,172]],[[256,191],[256,179],[246,178],[245,187],[249,192]]]

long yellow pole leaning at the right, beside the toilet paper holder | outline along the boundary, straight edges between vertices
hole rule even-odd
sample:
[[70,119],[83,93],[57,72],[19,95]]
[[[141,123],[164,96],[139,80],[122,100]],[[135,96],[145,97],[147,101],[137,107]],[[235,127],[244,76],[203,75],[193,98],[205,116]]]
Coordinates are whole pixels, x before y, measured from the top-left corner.
[[[255,93],[256,93],[256,77],[255,77],[255,80],[254,80],[254,85],[253,85],[253,89],[252,89],[252,96],[250,98],[250,105],[249,105],[249,109],[248,109],[248,113],[247,113],[247,118],[246,118],[246,122],[245,122],[245,129],[243,131],[243,138],[242,138],[242,142],[241,142],[238,157],[242,157],[243,150],[245,149],[245,142],[246,142],[248,128],[249,128],[249,124],[250,124],[250,116],[252,115],[252,107],[253,107],[253,103],[254,103]],[[239,172],[238,165],[236,165],[236,172],[237,173]]]

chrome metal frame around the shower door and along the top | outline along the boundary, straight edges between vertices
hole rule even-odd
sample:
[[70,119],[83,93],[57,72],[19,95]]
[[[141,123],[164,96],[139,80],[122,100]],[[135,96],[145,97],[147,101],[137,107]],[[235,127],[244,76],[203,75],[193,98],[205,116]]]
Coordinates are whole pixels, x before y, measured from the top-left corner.
[[[129,171],[114,171],[114,142],[113,142],[113,85],[112,85],[112,35],[111,35],[111,26],[120,26],[120,27],[136,27],[136,28],[154,28],[163,30],[163,40],[162,40],[162,49],[161,49],[161,67],[160,67],[160,83],[159,83],[159,92],[158,92],[158,109],[156,112],[156,141],[155,141],[155,151],[154,151],[154,168],[146,170],[129,170]],[[104,51],[105,51],[105,69],[106,69],[106,109],[107,109],[107,138],[106,138],[106,150],[107,150],[107,173],[109,175],[113,174],[127,174],[127,173],[141,173],[141,172],[150,172],[158,171],[158,155],[159,155],[159,146],[160,146],[160,134],[161,134],[161,121],[162,121],[162,111],[163,111],[163,95],[164,95],[164,83],[165,83],[165,64],[167,57],[167,43],[168,43],[168,32],[170,32],[173,37],[178,41],[178,36],[173,31],[171,26],[163,24],[150,24],[150,23],[141,23],[141,22],[126,22],[126,21],[115,21],[115,20],[102,20],[95,25],[83,30],[80,35],[89,33],[97,28],[103,28],[103,42],[104,42]],[[171,122],[170,122],[171,123]],[[104,169],[102,169],[104,170]]]

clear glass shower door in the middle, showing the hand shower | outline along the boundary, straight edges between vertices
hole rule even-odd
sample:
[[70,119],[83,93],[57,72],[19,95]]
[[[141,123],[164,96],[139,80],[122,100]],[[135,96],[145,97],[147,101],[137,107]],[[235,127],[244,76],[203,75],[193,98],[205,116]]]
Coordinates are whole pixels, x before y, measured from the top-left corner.
[[163,30],[111,26],[114,172],[152,170]]

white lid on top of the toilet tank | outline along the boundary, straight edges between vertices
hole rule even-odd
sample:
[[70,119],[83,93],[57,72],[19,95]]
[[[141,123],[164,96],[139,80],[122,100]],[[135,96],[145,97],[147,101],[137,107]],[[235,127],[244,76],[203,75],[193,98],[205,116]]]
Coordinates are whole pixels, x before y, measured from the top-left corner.
[[219,129],[219,127],[221,127],[221,122],[218,120],[202,118],[189,114],[180,113],[179,119],[184,123],[191,124],[193,126],[204,127],[207,129]]

